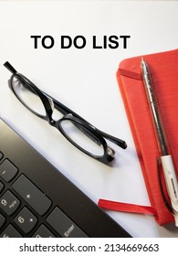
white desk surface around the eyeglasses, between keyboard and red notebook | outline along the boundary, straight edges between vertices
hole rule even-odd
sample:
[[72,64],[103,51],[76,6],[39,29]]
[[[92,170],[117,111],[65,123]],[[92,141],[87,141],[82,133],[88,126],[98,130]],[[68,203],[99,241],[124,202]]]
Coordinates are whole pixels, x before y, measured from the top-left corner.
[[[116,71],[122,59],[177,48],[177,16],[175,1],[0,2],[0,116],[96,203],[105,198],[150,205]],[[55,47],[34,49],[32,35],[54,37]],[[62,35],[82,35],[87,46],[61,49]],[[131,39],[125,49],[93,49],[94,35],[99,43],[104,35]],[[16,100],[7,86],[6,60],[90,123],[124,139],[128,149],[114,147],[112,167],[81,153]],[[151,216],[108,214],[133,237],[178,237],[173,224],[159,227]]]

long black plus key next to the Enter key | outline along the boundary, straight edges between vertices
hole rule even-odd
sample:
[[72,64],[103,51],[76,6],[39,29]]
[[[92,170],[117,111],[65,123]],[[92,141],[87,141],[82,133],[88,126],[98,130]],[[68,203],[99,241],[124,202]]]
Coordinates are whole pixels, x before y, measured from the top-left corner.
[[12,186],[39,215],[44,215],[51,206],[51,200],[26,176],[19,176]]

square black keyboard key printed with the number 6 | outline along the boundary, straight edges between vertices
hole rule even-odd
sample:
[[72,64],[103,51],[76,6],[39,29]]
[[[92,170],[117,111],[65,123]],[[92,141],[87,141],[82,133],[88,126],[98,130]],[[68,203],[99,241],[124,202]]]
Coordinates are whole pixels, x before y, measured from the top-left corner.
[[37,224],[37,218],[27,208],[23,208],[15,218],[16,225],[26,234],[29,233]]

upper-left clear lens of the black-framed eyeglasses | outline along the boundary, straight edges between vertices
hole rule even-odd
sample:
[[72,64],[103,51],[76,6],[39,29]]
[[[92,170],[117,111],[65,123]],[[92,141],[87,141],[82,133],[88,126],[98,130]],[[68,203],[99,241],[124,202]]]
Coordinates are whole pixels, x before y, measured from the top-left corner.
[[31,87],[28,87],[27,83],[25,84],[23,80],[20,80],[18,77],[14,76],[12,80],[12,87],[17,98],[22,101],[28,109],[36,112],[37,115],[46,116],[43,102],[38,97],[36,91],[34,91]]

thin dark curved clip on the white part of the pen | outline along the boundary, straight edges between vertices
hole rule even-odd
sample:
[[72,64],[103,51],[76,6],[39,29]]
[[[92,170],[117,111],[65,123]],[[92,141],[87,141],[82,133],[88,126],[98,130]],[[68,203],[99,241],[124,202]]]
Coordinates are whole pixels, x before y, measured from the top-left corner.
[[157,172],[158,172],[158,180],[159,180],[159,186],[160,186],[160,190],[161,190],[161,193],[162,193],[162,199],[163,199],[163,202],[166,206],[166,208],[168,208],[168,210],[173,214],[174,216],[174,211],[173,211],[173,207],[172,205],[169,203],[169,201],[167,200],[166,196],[165,196],[165,193],[163,191],[163,187],[162,187],[162,176],[161,176],[161,171],[162,171],[162,168],[161,168],[161,165],[162,165],[162,162],[160,160],[159,157],[156,157],[156,163],[157,163]]

